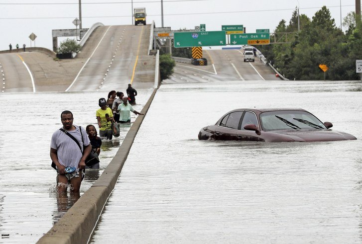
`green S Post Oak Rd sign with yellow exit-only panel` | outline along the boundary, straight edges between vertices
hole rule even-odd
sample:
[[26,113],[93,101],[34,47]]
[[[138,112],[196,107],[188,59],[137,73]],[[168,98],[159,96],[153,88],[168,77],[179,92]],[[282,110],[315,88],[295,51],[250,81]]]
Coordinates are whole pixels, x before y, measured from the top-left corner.
[[230,35],[230,45],[267,45],[270,44],[269,33],[246,33]]

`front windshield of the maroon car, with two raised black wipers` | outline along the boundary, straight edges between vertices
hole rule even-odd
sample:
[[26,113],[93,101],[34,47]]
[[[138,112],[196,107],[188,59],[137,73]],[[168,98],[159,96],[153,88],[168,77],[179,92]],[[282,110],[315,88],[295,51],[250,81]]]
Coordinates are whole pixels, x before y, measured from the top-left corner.
[[327,129],[313,114],[306,111],[270,111],[260,114],[263,131]]

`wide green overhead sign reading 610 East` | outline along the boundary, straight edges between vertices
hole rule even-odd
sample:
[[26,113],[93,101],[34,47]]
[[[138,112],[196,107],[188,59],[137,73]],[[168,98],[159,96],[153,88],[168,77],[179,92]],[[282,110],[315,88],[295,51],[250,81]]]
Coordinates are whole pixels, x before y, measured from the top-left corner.
[[225,31],[175,32],[174,47],[225,46]]

